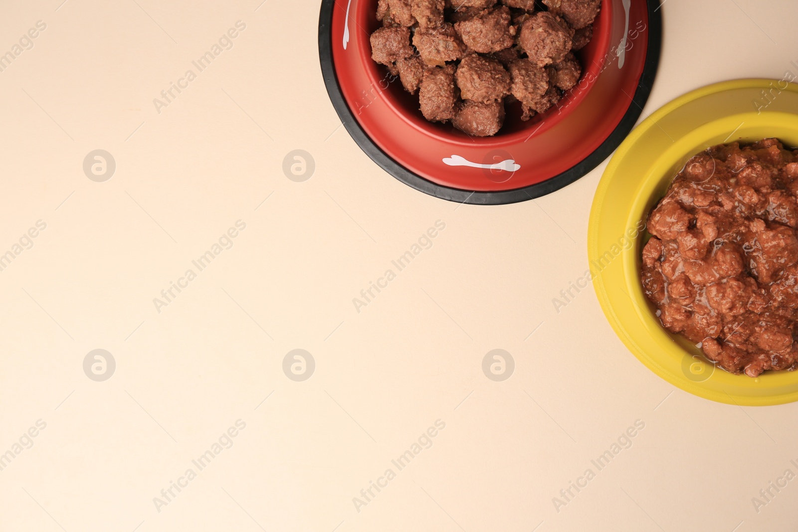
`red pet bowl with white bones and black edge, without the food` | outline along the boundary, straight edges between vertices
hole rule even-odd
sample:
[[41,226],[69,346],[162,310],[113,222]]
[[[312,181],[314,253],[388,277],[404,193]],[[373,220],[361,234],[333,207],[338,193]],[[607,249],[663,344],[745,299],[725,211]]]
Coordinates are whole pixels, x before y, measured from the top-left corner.
[[318,48],[334,108],[361,149],[403,183],[459,203],[546,195],[598,166],[634,127],[659,61],[658,0],[603,0],[593,40],[576,55],[579,84],[555,107],[475,138],[421,116],[418,97],[371,59],[377,0],[322,0]]

